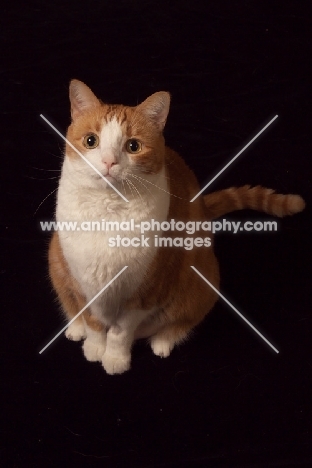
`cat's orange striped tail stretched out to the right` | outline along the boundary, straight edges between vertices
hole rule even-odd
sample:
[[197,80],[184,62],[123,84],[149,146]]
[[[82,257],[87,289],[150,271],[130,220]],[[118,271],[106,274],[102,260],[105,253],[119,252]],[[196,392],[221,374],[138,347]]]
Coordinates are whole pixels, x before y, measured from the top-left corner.
[[287,216],[299,213],[305,207],[299,195],[281,195],[274,190],[261,187],[231,187],[204,196],[209,219],[215,219],[231,211],[251,209],[274,216]]

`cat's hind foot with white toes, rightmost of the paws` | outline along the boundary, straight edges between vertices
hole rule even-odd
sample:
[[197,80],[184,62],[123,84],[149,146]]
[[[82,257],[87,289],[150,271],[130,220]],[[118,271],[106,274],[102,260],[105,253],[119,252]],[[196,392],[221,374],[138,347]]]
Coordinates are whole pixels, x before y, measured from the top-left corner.
[[153,353],[159,357],[168,357],[174,346],[185,341],[196,323],[181,322],[165,325],[150,338]]

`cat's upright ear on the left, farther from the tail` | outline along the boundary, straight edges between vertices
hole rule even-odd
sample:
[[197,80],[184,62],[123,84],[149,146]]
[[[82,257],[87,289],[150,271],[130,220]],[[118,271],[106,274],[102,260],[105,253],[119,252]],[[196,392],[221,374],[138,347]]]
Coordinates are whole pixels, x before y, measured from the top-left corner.
[[82,81],[78,80],[72,80],[70,82],[69,99],[73,121],[86,110],[91,110],[101,105],[91,89]]

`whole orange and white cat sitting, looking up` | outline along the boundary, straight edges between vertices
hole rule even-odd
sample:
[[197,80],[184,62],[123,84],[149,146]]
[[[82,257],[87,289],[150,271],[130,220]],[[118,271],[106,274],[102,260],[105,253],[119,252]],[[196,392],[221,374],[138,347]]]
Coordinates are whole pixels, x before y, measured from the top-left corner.
[[[57,221],[134,219],[139,226],[150,220],[212,220],[244,208],[277,216],[304,208],[298,195],[248,185],[199,196],[190,203],[200,190],[197,179],[183,159],[165,146],[167,92],[157,92],[135,107],[108,105],[84,83],[72,80],[69,97],[72,121],[67,140],[95,169],[66,144]],[[140,238],[139,228],[118,233],[130,241]],[[84,340],[86,359],[100,361],[108,374],[130,368],[131,348],[137,339],[148,338],[155,355],[169,356],[212,309],[218,294],[191,265],[217,290],[220,282],[211,233],[207,247],[195,242],[207,239],[206,231],[178,232],[182,240],[193,239],[191,249],[157,247],[150,242],[155,234],[174,239],[177,231],[173,230],[152,236],[149,232],[148,246],[136,247],[110,247],[109,239],[116,234],[55,231],[48,255],[50,278],[68,320],[127,266],[65,333],[70,340]]]

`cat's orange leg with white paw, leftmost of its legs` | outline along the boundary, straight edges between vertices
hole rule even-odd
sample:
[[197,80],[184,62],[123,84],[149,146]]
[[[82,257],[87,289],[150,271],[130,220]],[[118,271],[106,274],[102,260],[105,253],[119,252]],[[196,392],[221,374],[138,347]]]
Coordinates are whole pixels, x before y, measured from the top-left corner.
[[[78,285],[69,272],[57,232],[53,234],[49,247],[49,273],[62,309],[68,321],[70,321],[85,306],[85,299],[80,294]],[[69,340],[73,341],[86,338],[85,326],[81,316],[78,316],[68,326],[65,335]]]

